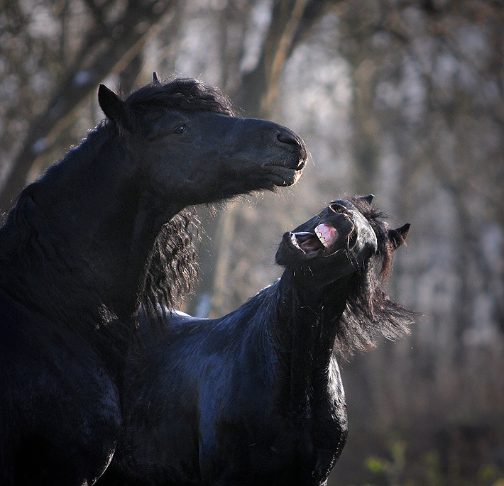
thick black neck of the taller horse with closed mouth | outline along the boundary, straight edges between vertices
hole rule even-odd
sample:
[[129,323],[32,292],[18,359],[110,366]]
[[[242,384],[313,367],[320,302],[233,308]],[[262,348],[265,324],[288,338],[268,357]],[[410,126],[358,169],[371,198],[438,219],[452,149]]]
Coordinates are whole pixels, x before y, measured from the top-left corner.
[[23,191],[0,231],[0,286],[105,357],[133,333],[162,226],[127,173],[131,159],[118,137],[92,133]]

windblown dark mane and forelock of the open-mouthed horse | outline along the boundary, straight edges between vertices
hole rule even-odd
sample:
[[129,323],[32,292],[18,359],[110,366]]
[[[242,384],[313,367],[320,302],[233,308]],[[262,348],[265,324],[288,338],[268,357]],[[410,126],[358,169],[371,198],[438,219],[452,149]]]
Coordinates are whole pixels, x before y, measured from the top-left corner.
[[[387,214],[363,198],[346,198],[361,211],[376,233],[378,250],[371,260],[351,279],[346,309],[336,329],[335,350],[341,357],[350,358],[354,350],[375,346],[378,336],[395,341],[409,333],[414,311],[390,300],[383,289],[390,272],[393,251],[405,238],[389,230],[384,219]],[[391,233],[393,237],[391,237]]]

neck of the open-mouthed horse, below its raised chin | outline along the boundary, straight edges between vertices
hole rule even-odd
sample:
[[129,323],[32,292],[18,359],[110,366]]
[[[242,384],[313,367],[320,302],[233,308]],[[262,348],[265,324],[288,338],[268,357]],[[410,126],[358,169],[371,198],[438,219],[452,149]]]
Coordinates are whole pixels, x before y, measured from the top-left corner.
[[329,380],[339,319],[346,306],[345,282],[305,288],[292,272],[280,279],[278,317],[270,330],[277,358],[278,403],[292,413],[309,407],[314,389]]

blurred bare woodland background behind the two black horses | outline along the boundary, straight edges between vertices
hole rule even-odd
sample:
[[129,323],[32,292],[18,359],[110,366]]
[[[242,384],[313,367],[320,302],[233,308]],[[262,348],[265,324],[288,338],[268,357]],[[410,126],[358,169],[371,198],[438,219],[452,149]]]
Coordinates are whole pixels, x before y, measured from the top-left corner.
[[185,309],[278,277],[276,246],[328,201],[412,223],[390,293],[412,333],[341,363],[349,441],[330,485],[504,485],[501,0],[0,0],[0,210],[128,93],[192,76],[305,139],[302,180],[211,219]]

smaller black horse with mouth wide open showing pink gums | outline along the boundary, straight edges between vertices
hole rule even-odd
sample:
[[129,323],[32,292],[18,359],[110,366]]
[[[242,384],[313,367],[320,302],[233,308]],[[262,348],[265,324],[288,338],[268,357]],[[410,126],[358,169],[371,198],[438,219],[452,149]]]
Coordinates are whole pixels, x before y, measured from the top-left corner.
[[333,354],[407,331],[381,284],[409,225],[371,197],[334,201],[285,233],[280,280],[221,319],[143,320],[124,431],[102,485],[322,485],[346,441]]

